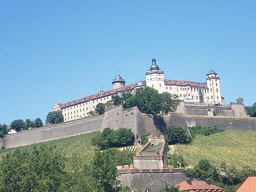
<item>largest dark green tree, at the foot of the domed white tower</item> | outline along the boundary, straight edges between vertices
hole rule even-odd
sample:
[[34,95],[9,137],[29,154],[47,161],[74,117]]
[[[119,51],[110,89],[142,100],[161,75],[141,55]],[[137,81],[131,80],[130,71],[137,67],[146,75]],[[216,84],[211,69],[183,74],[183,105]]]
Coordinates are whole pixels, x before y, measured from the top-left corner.
[[142,113],[156,115],[161,111],[162,102],[157,90],[150,87],[139,88],[135,95],[137,106]]

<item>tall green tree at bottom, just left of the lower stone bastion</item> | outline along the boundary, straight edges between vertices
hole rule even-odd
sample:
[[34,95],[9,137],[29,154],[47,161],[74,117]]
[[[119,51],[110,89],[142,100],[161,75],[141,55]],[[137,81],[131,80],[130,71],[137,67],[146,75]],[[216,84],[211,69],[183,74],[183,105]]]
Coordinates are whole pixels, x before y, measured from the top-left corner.
[[93,177],[100,183],[100,187],[106,192],[115,191],[120,181],[117,180],[116,160],[109,150],[95,153],[92,168]]

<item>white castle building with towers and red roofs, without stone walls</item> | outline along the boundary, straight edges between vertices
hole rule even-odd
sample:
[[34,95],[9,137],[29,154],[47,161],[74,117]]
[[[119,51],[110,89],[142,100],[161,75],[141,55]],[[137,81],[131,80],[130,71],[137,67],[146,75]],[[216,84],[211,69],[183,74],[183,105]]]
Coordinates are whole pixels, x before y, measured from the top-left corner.
[[224,98],[221,95],[220,77],[210,69],[206,74],[206,82],[195,82],[188,80],[165,79],[164,72],[159,69],[156,59],[152,59],[150,70],[145,74],[145,80],[125,86],[124,79],[117,74],[112,81],[113,89],[86,96],[66,103],[54,103],[53,111],[61,110],[64,120],[70,121],[87,117],[91,110],[95,110],[98,103],[106,103],[112,100],[112,96],[129,90],[135,93],[137,88],[152,87],[159,93],[168,92],[177,94],[180,100],[189,103],[205,103],[213,105],[224,105]]

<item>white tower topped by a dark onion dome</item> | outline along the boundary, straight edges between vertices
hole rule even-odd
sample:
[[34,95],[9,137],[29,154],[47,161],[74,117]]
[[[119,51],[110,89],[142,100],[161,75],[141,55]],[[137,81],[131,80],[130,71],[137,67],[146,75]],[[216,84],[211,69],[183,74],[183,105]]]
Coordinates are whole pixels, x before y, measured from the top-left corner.
[[152,66],[146,72],[146,86],[156,89],[159,93],[164,92],[164,73],[156,64],[156,59],[152,59]]

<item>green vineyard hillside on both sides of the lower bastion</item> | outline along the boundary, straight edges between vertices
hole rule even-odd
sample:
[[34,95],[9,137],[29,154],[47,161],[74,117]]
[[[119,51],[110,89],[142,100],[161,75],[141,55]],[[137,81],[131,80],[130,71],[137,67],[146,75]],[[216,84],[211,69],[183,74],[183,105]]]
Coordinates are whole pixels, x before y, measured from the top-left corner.
[[[92,132],[18,148],[31,150],[34,146],[41,144],[56,145],[68,158],[75,155],[83,162],[88,162],[94,154],[94,146],[91,144],[91,139],[96,133]],[[135,146],[126,148],[132,151],[138,151],[139,149],[139,147]],[[172,147],[170,148],[172,149]],[[0,158],[3,153],[11,150],[13,148],[0,150]],[[227,164],[239,168],[243,165],[256,168],[255,152],[256,131],[227,131],[211,136],[197,137],[194,139],[193,144],[175,145],[175,153],[183,155],[189,165],[195,165],[200,159],[206,158],[217,166],[222,161],[225,161]]]

